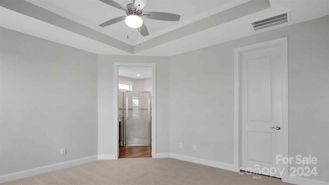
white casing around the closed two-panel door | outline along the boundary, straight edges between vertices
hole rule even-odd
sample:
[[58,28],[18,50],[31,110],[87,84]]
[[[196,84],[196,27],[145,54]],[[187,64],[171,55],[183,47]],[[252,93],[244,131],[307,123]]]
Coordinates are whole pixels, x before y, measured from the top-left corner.
[[[287,37],[265,41],[257,44],[234,48],[234,168],[237,172],[241,168],[241,64],[240,54],[262,48],[281,46],[282,60],[282,155],[289,156],[289,123],[288,123],[288,41]],[[289,176],[289,164],[282,164],[284,173],[282,181],[287,182]]]

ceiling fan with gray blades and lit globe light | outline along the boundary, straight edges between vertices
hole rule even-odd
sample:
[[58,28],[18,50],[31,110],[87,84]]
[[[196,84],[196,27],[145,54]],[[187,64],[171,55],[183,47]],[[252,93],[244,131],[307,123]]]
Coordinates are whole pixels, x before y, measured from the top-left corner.
[[150,18],[159,21],[179,21],[180,15],[166,12],[144,12],[143,8],[149,0],[133,0],[133,3],[127,4],[125,7],[112,0],[99,0],[103,3],[111,5],[115,8],[125,11],[126,15],[118,16],[112,20],[108,20],[99,26],[105,27],[125,20],[125,24],[131,28],[139,28],[141,35],[149,35],[149,30],[143,23],[141,17]]

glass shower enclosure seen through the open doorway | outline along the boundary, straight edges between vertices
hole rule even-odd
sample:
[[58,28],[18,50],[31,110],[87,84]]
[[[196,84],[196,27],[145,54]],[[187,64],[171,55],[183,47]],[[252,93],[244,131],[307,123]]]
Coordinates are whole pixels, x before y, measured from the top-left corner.
[[120,145],[151,145],[150,92],[121,91],[118,103]]

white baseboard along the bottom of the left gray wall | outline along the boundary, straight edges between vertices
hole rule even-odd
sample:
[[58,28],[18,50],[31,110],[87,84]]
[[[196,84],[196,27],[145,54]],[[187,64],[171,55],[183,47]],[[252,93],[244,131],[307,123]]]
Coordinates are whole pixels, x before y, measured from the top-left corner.
[[68,167],[72,167],[75,165],[92,162],[92,161],[96,161],[96,160],[97,160],[97,155],[94,155],[94,156],[59,162],[56,164],[45,165],[43,167],[23,170],[20,172],[5,174],[5,175],[0,176],[0,183],[16,180],[16,179],[20,179],[20,178],[30,177],[33,175],[39,175],[39,174],[51,172],[54,170],[60,170],[60,169],[64,169],[64,168],[68,168]]

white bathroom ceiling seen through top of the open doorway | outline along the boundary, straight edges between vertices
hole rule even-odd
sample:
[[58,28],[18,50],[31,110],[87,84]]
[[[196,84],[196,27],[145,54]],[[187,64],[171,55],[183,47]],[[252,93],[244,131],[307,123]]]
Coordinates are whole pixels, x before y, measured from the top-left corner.
[[119,76],[129,77],[133,79],[151,78],[152,68],[151,67],[119,67]]

